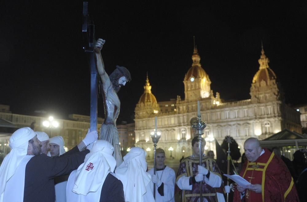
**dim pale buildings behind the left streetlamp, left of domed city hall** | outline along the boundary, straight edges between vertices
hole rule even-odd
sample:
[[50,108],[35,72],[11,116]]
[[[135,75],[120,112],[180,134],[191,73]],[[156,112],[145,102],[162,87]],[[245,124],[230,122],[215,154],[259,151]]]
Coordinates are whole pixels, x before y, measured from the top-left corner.
[[[9,105],[0,105],[0,162],[10,152],[8,146],[10,136],[14,131],[22,127],[33,127],[35,131],[46,132],[50,138],[57,135],[62,136],[66,150],[75,147],[85,137],[90,127],[90,117],[80,114],[70,114],[68,118],[69,120],[55,119],[58,122],[58,127],[46,128],[43,122],[48,120],[47,117],[14,114],[10,111]],[[97,118],[98,133],[103,121],[103,118]],[[117,129],[122,154],[126,154],[128,147],[134,147],[134,123],[127,124],[126,122],[122,122],[117,125]]]

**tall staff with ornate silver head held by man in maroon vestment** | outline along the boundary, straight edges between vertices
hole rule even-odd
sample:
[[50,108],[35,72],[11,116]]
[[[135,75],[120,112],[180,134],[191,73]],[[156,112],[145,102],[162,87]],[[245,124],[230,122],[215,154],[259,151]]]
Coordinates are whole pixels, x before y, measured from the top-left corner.
[[[195,135],[198,135],[198,149],[199,149],[199,165],[201,166],[201,159],[202,159],[202,153],[201,153],[201,135],[204,134],[204,128],[206,128],[206,123],[204,121],[200,120],[200,106],[199,101],[197,101],[197,121],[195,121],[192,124],[192,128],[195,129]],[[203,181],[199,182],[199,190],[200,190],[200,201],[203,201],[203,189],[202,189],[202,183]]]

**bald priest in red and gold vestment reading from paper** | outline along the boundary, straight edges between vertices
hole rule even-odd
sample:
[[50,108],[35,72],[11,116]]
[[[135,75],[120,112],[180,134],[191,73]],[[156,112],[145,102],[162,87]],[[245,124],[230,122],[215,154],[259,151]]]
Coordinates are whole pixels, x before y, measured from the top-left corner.
[[237,185],[234,202],[299,201],[293,178],[281,158],[262,149],[256,138],[245,141],[244,151],[248,161],[240,176],[251,184],[247,189]]

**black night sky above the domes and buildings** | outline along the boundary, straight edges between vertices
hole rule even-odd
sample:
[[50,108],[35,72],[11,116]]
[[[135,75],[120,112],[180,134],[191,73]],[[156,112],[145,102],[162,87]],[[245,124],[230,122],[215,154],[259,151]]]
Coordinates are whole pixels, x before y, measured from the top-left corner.
[[[82,49],[82,1],[1,3],[0,104],[17,114],[89,115],[90,71]],[[157,101],[184,98],[193,36],[211,89],[249,99],[261,41],[286,103],[307,103],[307,3],[277,1],[89,1],[106,72],[132,81],[119,91],[119,120],[132,121],[148,72]],[[101,96],[100,96],[101,97]],[[99,98],[99,116],[104,116]]]

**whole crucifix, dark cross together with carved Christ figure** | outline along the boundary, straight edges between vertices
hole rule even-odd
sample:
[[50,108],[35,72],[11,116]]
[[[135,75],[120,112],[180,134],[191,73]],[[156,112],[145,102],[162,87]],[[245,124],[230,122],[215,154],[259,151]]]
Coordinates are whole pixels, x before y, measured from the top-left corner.
[[119,166],[122,163],[122,155],[120,153],[119,135],[116,128],[116,119],[120,108],[117,93],[121,86],[125,86],[126,82],[131,81],[131,75],[125,67],[120,66],[116,66],[110,76],[105,72],[100,53],[105,40],[98,39],[95,43],[95,25],[89,18],[88,2],[83,2],[82,33],[85,41],[83,48],[87,53],[91,71],[90,131],[97,130],[97,87],[99,74],[105,112],[105,120],[100,128],[100,139],[107,140],[113,145],[113,156],[116,159],[116,166]]

